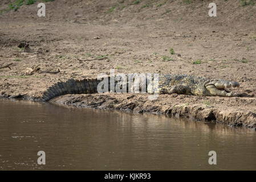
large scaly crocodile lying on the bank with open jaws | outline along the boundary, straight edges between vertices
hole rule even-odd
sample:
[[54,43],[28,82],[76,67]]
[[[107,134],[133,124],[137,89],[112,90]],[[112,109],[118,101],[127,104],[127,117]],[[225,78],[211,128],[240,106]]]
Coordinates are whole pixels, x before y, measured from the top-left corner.
[[[111,77],[107,77],[107,79],[109,81],[108,83],[110,83]],[[56,84],[50,86],[45,92],[43,92],[42,98],[43,101],[48,101],[63,94],[97,93],[97,86],[101,81],[102,80],[97,80],[97,78],[86,78],[82,80],[75,80],[71,78],[64,82],[59,81]],[[155,86],[156,84],[154,85],[152,82],[149,82],[148,79],[146,81],[146,92],[149,94],[176,93],[193,96],[238,96],[237,93],[233,93],[228,90],[229,88],[235,88],[239,86],[239,83],[236,81],[209,79],[193,75],[159,74],[158,86]],[[115,86],[117,83],[118,81],[115,81]],[[141,86],[142,85],[140,84],[140,90]],[[110,84],[108,85],[108,91],[111,91]]]

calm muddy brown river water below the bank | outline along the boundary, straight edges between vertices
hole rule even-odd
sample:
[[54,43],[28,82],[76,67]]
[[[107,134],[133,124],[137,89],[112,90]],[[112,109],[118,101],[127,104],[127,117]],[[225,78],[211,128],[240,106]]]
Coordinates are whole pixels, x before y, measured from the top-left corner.
[[255,139],[221,124],[0,100],[2,170],[255,170]]

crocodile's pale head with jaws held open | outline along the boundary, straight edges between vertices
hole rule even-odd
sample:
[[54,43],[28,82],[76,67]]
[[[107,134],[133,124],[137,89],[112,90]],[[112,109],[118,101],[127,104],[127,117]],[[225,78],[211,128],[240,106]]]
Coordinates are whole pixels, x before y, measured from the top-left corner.
[[237,93],[232,93],[228,89],[238,86],[240,86],[238,82],[226,80],[210,80],[205,84],[206,94],[208,96],[235,97]]

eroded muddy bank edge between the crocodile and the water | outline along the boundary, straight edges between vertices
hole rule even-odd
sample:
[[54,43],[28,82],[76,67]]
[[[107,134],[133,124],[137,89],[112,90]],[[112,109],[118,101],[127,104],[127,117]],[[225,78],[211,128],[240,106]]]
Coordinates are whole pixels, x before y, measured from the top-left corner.
[[[202,122],[217,122],[228,126],[243,126],[255,130],[256,110],[242,103],[254,103],[254,98],[194,97],[178,94],[159,95],[157,100],[148,100],[148,94],[81,94],[65,95],[51,100],[52,103],[95,109],[123,110],[135,113],[164,114],[171,117],[191,118]],[[229,104],[222,104],[228,102]],[[256,105],[255,107],[256,108]]]

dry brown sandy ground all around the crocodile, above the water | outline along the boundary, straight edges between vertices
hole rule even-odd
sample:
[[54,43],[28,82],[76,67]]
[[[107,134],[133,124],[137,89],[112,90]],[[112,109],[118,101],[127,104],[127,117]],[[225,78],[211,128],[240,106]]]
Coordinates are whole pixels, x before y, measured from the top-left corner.
[[[1,1],[0,12],[11,2]],[[187,73],[238,81],[241,86],[234,91],[247,97],[172,94],[149,101],[147,94],[82,94],[53,101],[255,128],[256,6],[218,1],[217,17],[209,17],[210,1],[133,2],[55,0],[46,3],[45,18],[37,16],[37,3],[0,14],[0,67],[13,63],[11,70],[0,69],[0,96],[36,99],[59,80],[96,77],[111,68],[116,73]],[[23,41],[34,52],[18,48]],[[176,54],[170,55],[170,48]],[[108,59],[76,59],[100,56]],[[201,64],[193,64],[198,60]],[[26,68],[36,66],[60,73],[27,76]]]

